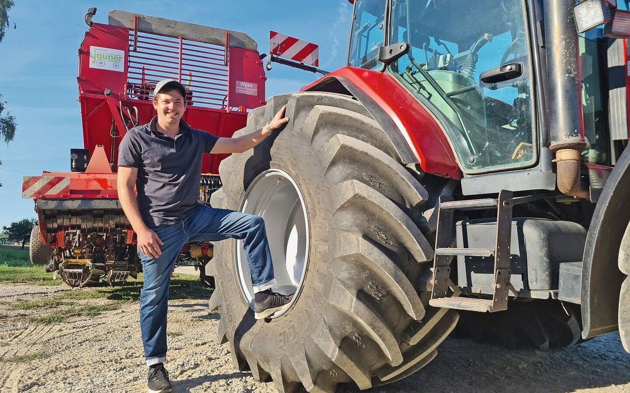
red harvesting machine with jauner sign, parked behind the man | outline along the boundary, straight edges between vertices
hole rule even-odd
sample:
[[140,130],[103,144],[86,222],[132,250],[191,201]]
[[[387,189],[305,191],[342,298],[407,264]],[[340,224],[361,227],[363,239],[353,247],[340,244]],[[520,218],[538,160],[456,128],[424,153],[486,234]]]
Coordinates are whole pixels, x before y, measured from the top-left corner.
[[[79,47],[79,102],[84,146],[71,149],[71,172],[25,176],[22,197],[35,200],[38,226],[31,233],[31,262],[47,265],[72,287],[105,279],[125,282],[141,270],[135,236],[116,191],[118,144],[125,132],[156,115],[152,91],[172,78],[186,86],[186,123],[231,136],[246,125],[248,109],[265,104],[265,72],[255,41],[238,31],[193,25],[123,11],[109,23],[85,21]],[[243,87],[246,86],[246,87]],[[200,200],[221,187],[226,155],[202,163]],[[185,245],[178,263],[201,267],[210,243]]]

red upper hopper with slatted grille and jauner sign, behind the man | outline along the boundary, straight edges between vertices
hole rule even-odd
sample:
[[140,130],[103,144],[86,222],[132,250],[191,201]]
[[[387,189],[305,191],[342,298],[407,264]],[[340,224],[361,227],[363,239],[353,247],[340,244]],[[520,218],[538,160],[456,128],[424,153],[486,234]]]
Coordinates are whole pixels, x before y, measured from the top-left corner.
[[[84,148],[93,155],[103,146],[113,170],[127,129],[155,116],[152,90],[161,79],[180,80],[188,90],[184,121],[217,136],[232,136],[246,125],[247,109],[265,103],[265,71],[255,50],[149,33],[136,19],[132,29],[93,23],[79,48]],[[123,66],[95,67],[94,47],[122,52]],[[202,173],[217,174],[225,157],[205,156]]]

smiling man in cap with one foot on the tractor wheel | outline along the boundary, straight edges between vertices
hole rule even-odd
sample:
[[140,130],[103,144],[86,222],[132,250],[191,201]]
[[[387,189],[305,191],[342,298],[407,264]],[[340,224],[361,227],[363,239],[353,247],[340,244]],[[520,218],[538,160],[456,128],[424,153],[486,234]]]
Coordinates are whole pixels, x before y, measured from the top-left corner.
[[[289,121],[283,107],[260,130],[238,138],[218,138],[193,130],[181,119],[186,89],[176,80],[156,85],[157,116],[127,131],[118,150],[118,199],[137,235],[144,285],[140,292],[140,329],[149,392],[171,392],[166,360],[168,285],[181,246],[191,241],[243,240],[254,285],[255,318],[286,306],[291,296],[271,291],[272,258],[263,219],[198,201],[203,153],[242,153]],[[134,185],[137,196],[134,195]]]

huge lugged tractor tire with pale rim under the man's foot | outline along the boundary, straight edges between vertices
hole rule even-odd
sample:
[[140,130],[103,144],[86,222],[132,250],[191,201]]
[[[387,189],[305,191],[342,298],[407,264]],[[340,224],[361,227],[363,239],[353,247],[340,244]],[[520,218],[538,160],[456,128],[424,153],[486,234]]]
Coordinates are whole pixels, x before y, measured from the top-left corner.
[[218,339],[232,361],[279,392],[369,389],[406,377],[437,354],[457,323],[428,305],[433,249],[429,198],[392,142],[352,97],[303,92],[253,110],[236,135],[261,128],[283,104],[290,121],[231,155],[212,206],[265,219],[284,314],[254,319],[242,244],[220,241],[209,274]]

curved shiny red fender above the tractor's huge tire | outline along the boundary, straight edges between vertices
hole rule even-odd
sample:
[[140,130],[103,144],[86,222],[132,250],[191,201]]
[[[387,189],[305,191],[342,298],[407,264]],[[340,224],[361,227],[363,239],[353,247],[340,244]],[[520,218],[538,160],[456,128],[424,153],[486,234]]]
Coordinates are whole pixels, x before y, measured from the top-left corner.
[[462,178],[462,172],[442,127],[391,75],[343,67],[303,87],[302,91],[316,91],[324,79],[331,77],[350,80],[389,115],[408,141],[422,170],[450,179]]

